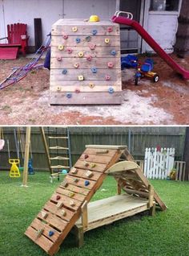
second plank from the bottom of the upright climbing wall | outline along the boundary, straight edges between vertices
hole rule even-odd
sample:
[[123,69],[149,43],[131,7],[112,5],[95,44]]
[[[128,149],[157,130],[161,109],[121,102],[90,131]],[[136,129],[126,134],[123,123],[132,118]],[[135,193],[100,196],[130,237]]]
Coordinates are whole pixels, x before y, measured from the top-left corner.
[[88,81],[88,85],[79,85],[79,83],[75,83],[75,85],[59,85],[59,81],[54,81],[55,86],[50,86],[50,93],[97,93],[97,92],[108,92],[108,89],[111,87],[115,92],[120,92],[122,87],[120,85],[99,85],[99,81],[95,81],[95,85],[93,88],[90,88],[90,81]]

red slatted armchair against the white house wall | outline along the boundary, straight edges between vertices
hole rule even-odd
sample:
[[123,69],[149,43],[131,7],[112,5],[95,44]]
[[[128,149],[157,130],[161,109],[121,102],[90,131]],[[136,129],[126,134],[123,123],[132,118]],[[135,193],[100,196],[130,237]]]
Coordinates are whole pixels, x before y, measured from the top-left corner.
[[[27,29],[27,25],[22,23],[7,25],[7,37],[4,37],[2,39],[7,39],[8,43],[0,43],[0,49],[2,49],[2,52],[4,53],[7,52],[8,55],[9,55],[9,52],[11,51],[12,52],[17,51],[18,53],[18,48],[19,48],[20,52],[22,52],[22,54],[25,56],[26,47],[28,46],[28,39],[29,39],[26,29]],[[1,57],[1,51],[0,51],[0,57]]]

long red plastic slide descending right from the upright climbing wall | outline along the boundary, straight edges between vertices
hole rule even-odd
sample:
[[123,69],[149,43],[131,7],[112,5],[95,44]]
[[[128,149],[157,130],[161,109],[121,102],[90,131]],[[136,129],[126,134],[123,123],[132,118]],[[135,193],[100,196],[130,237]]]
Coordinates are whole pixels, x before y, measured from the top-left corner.
[[167,53],[163,50],[163,48],[160,47],[159,44],[155,42],[155,39],[153,39],[151,35],[149,35],[147,31],[145,31],[145,29],[143,29],[143,27],[139,23],[137,23],[133,19],[127,19],[123,16],[113,16],[112,21],[113,23],[119,23],[119,24],[124,24],[124,25],[133,27],[135,31],[137,31],[139,35],[142,36],[142,38],[154,49],[155,52],[157,52],[157,54],[165,62],[167,62],[167,64],[172,69],[174,69],[176,72],[181,74],[184,79],[189,79],[189,71],[180,67],[179,64],[175,62],[175,60],[173,60],[170,56],[168,56]]

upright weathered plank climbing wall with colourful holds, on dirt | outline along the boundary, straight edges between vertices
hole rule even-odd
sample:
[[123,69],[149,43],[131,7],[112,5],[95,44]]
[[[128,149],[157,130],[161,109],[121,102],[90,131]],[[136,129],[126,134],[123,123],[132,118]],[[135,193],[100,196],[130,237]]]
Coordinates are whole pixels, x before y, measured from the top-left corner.
[[51,35],[51,105],[121,104],[118,24],[59,19]]

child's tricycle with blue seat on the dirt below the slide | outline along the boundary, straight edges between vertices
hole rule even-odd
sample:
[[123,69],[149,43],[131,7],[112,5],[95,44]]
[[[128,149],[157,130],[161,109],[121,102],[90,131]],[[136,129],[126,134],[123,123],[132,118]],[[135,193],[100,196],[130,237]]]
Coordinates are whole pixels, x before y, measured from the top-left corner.
[[135,85],[139,84],[139,80],[145,76],[153,79],[155,83],[159,81],[159,75],[156,72],[151,72],[154,68],[154,61],[151,59],[145,60],[145,62],[138,68],[135,73]]

